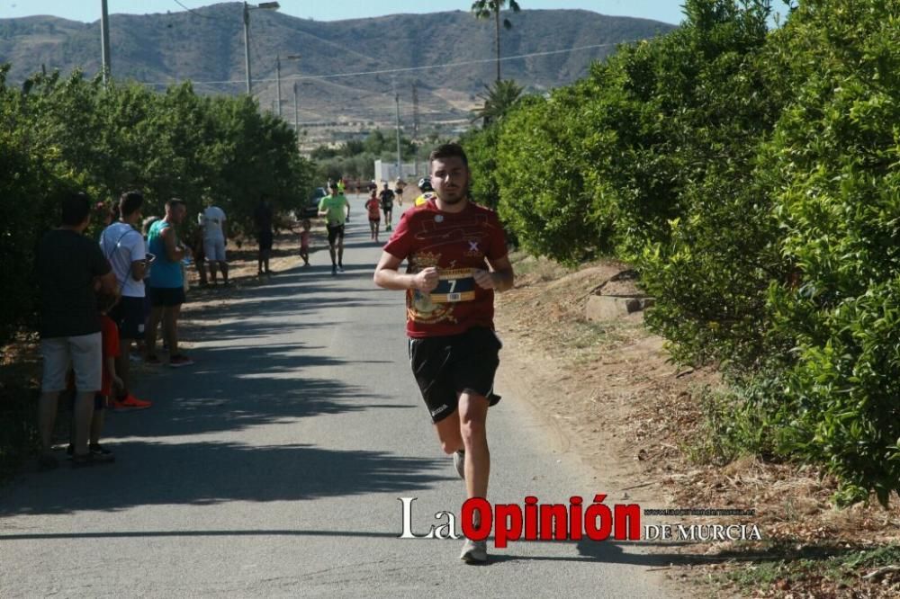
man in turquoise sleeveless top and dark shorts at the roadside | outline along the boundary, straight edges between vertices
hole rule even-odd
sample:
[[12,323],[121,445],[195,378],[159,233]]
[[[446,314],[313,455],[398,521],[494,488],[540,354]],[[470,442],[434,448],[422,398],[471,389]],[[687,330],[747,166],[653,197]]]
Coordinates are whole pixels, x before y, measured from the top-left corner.
[[158,364],[157,326],[163,325],[169,348],[169,366],[178,368],[193,364],[193,360],[178,352],[178,317],[184,304],[184,271],[181,261],[191,255],[191,250],[178,241],[175,226],[184,221],[187,209],[184,201],[173,198],[166,201],[166,216],[157,220],[148,231],[150,253],[156,260],[150,267],[150,317],[147,323],[147,362]]

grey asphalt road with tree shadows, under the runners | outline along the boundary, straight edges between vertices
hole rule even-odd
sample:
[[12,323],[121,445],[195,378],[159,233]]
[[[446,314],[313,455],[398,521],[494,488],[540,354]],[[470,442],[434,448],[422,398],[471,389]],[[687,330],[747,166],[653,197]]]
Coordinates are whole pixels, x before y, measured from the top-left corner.
[[[196,365],[139,381],[154,407],[108,418],[112,465],[26,473],[0,491],[0,596],[671,596],[640,542],[401,540],[464,499],[409,371],[400,292],[359,217],[347,273],[313,266],[194,313]],[[500,332],[502,335],[502,332]],[[502,362],[502,353],[501,353]],[[491,500],[603,492],[558,451],[500,366]],[[519,397],[517,397],[519,396]],[[489,545],[491,547],[491,545]]]

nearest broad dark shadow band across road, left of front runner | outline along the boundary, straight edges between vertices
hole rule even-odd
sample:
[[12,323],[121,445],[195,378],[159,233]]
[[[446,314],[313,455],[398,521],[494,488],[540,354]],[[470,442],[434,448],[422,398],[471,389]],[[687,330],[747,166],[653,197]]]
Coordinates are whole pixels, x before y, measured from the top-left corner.
[[121,445],[120,453],[115,464],[32,477],[27,489],[4,500],[0,515],[409,493],[446,479],[446,460],[303,444],[136,442]]

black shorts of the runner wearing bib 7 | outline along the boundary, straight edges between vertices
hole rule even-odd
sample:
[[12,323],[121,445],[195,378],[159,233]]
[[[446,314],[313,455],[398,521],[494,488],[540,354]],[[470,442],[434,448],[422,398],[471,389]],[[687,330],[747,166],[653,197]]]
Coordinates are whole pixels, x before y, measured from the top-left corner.
[[410,339],[410,365],[431,420],[438,423],[456,411],[461,393],[489,399],[500,364],[500,339],[490,328],[471,328],[461,335]]

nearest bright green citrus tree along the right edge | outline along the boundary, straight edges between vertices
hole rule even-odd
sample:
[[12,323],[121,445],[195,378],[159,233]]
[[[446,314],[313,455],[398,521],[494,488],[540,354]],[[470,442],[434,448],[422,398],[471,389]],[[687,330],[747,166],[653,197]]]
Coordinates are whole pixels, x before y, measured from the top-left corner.
[[900,4],[801,3],[778,49],[794,98],[763,149],[781,251],[788,448],[850,503],[900,488]]

